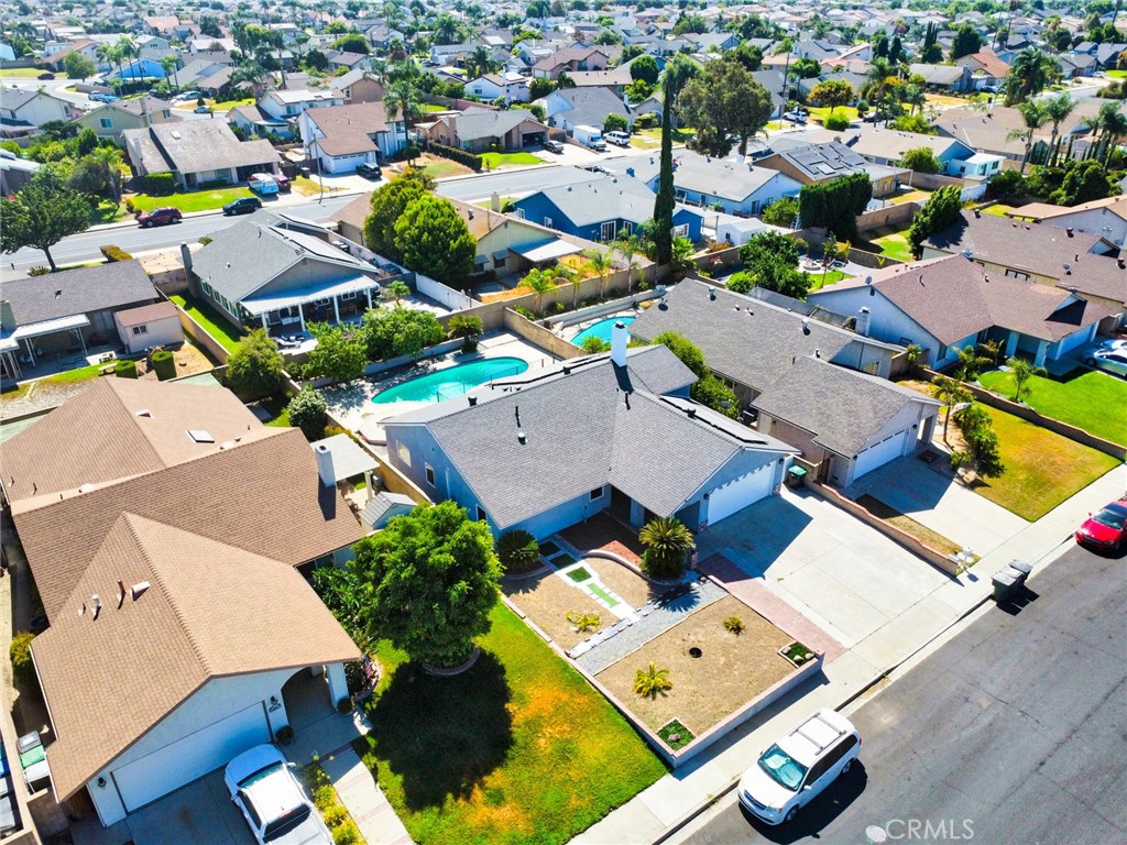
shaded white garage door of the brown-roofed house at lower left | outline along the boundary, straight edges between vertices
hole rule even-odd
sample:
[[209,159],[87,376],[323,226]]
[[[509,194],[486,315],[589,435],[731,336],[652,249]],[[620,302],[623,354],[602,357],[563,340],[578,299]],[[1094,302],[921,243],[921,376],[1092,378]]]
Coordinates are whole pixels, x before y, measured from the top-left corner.
[[221,719],[159,751],[114,770],[114,782],[132,812],[224,766],[248,748],[270,741],[261,702]]

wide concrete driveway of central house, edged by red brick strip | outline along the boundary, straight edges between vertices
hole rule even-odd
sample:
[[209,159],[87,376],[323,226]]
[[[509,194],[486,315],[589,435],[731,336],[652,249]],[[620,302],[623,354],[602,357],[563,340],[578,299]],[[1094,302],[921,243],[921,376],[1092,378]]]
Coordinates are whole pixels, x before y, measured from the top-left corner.
[[783,488],[710,525],[698,557],[724,554],[852,648],[950,579],[816,493]]

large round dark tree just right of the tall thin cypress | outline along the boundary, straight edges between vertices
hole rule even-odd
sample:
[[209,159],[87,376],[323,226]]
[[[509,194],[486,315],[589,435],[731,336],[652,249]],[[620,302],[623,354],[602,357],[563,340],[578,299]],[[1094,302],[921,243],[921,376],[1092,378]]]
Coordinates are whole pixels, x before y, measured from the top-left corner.
[[731,137],[745,152],[747,139],[771,119],[771,95],[739,62],[709,62],[689,80],[676,105],[677,113],[696,127],[689,145],[706,155],[727,155]]

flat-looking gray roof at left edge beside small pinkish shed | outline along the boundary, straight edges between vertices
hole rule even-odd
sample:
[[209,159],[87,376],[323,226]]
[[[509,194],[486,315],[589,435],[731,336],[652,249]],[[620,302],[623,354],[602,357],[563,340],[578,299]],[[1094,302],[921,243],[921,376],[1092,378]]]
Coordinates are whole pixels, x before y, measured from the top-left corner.
[[79,267],[51,276],[5,279],[0,296],[11,303],[16,322],[26,326],[152,302],[157,299],[157,288],[141,268],[141,261],[133,259]]

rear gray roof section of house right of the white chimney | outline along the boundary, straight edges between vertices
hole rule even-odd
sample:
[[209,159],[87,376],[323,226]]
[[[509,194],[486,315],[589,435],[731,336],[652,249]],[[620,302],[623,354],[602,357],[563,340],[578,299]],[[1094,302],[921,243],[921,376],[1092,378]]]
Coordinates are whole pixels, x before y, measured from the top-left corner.
[[692,279],[669,288],[665,305],[641,312],[630,330],[647,340],[675,331],[701,348],[712,370],[753,390],[765,390],[797,358],[817,350],[829,359],[866,340],[817,320],[804,328],[801,314]]

